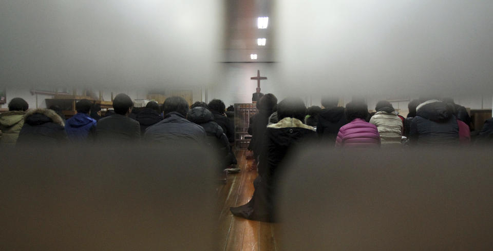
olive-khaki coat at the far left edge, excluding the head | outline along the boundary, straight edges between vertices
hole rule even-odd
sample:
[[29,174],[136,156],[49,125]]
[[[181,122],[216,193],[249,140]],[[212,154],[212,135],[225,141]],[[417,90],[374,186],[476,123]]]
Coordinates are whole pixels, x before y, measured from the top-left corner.
[[25,111],[6,111],[0,114],[0,131],[2,131],[0,145],[15,145],[19,132],[21,132],[21,128],[24,125],[25,114]]

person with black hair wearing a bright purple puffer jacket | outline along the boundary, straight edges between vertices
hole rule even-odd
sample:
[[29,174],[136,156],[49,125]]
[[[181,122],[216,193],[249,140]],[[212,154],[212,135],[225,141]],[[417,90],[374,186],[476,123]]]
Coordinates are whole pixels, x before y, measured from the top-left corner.
[[[360,101],[346,105],[348,124],[340,127],[335,140],[336,147],[380,147],[380,134],[375,125],[366,122],[368,106]],[[400,120],[400,119],[399,119]]]

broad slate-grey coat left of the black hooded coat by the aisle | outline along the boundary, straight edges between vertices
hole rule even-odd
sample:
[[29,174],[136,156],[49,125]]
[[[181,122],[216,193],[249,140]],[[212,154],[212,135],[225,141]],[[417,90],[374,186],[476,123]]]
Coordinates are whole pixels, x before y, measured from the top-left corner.
[[147,128],[144,140],[159,143],[191,140],[203,144],[205,136],[204,128],[188,121],[181,113],[173,111],[167,113],[162,121]]

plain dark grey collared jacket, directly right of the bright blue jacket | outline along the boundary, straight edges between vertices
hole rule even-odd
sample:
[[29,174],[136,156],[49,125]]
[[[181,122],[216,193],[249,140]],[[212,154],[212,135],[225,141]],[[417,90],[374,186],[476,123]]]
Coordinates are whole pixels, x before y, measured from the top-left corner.
[[98,143],[134,143],[139,139],[139,122],[121,114],[104,117],[96,125],[96,142]]

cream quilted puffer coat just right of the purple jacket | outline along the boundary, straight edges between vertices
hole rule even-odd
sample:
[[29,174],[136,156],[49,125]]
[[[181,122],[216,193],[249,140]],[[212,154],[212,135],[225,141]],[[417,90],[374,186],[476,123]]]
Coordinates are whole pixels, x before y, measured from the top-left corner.
[[377,111],[370,123],[378,129],[382,144],[401,144],[403,123],[393,108],[384,107]]

